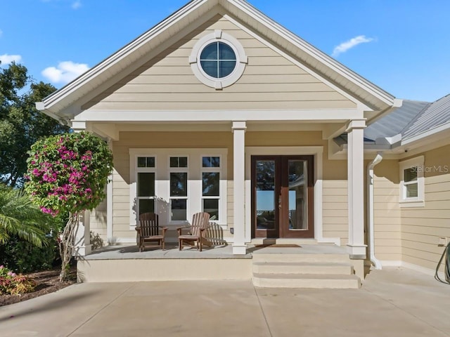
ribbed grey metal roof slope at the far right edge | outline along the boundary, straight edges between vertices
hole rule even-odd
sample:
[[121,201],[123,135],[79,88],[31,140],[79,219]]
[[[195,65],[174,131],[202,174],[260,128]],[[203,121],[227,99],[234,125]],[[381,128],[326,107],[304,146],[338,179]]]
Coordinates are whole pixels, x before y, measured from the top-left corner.
[[419,136],[450,122],[450,94],[439,98],[420,112],[403,130],[404,140]]

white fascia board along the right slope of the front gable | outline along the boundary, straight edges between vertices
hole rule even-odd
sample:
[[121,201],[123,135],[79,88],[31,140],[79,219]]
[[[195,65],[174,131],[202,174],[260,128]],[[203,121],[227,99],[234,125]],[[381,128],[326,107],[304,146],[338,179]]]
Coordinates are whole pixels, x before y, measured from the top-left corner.
[[319,49],[314,48],[314,46],[311,46],[306,41],[300,39],[300,37],[297,37],[297,35],[288,31],[288,29],[285,29],[278,23],[266,17],[266,15],[259,12],[255,7],[251,6],[246,1],[242,0],[226,0],[226,1],[233,4],[250,17],[261,22],[262,25],[265,25],[267,28],[278,33],[279,35],[281,35],[281,37],[289,41],[291,44],[297,46],[297,48],[300,48],[308,55],[311,55],[311,57],[315,58],[323,65],[326,65],[331,70],[334,70],[335,72],[340,74],[342,77],[345,77],[349,81],[352,81],[352,83],[356,84],[360,88],[363,88],[365,91],[367,91],[371,95],[374,95],[379,100],[382,100],[385,104],[391,106],[396,104],[394,96],[390,95],[390,93],[383,91],[383,89],[379,88],[378,86],[375,86],[375,84],[372,84],[371,82],[367,81],[366,79],[359,76],[355,72],[352,72],[352,70],[349,70],[340,62],[334,60],[333,58],[330,58],[330,56],[326,55],[325,53],[322,53],[321,51],[319,51]]

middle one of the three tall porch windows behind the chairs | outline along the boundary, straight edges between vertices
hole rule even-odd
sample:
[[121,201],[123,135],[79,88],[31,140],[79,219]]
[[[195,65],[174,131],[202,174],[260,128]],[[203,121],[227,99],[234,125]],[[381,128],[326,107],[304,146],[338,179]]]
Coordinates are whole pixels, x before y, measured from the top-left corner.
[[169,221],[188,220],[188,157],[169,157]]

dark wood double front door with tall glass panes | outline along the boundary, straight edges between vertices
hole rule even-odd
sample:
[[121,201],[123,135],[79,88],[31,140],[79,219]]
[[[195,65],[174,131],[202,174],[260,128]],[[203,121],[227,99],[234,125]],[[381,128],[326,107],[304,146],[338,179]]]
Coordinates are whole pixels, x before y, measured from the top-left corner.
[[252,237],[314,237],[314,156],[252,156]]

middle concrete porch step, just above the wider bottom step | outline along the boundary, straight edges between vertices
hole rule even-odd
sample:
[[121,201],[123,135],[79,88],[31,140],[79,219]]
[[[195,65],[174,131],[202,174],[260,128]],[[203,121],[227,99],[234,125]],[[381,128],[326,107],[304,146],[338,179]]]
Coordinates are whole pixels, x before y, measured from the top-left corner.
[[350,263],[330,262],[253,262],[254,274],[352,275]]

